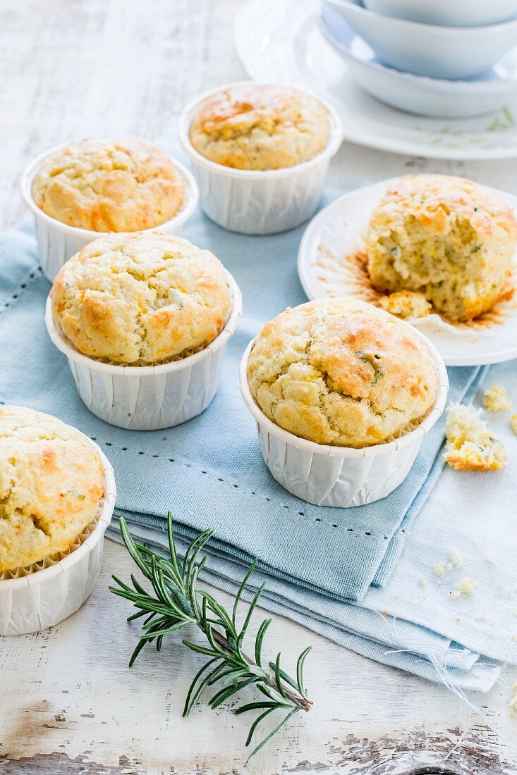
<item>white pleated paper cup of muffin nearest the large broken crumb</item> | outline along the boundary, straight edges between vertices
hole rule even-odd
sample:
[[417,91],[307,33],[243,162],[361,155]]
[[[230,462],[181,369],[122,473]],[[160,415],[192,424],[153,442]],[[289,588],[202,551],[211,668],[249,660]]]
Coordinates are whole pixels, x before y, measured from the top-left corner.
[[439,353],[421,332],[411,330],[425,343],[435,363],[435,403],[418,425],[409,425],[397,438],[363,449],[300,439],[272,422],[249,388],[248,358],[255,340],[249,343],[241,360],[241,394],[256,420],[265,465],[287,491],[317,506],[349,508],[385,498],[408,476],[422,439],[442,415],[449,390]]

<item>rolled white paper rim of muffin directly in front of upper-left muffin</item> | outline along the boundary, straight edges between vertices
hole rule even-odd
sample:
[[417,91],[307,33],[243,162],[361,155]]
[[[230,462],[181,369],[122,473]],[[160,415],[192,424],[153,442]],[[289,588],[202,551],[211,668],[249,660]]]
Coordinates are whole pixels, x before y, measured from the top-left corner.
[[169,374],[172,371],[182,371],[183,369],[191,368],[195,366],[196,363],[200,363],[200,361],[204,360],[206,357],[212,356],[213,353],[216,353],[217,350],[220,350],[220,348],[227,343],[228,339],[233,336],[235,329],[237,328],[238,320],[241,317],[241,289],[235,282],[234,277],[225,267],[224,272],[227,275],[227,281],[231,292],[231,312],[227,322],[224,325],[224,329],[216,336],[215,339],[213,339],[212,342],[210,342],[210,344],[206,345],[206,347],[203,347],[203,350],[200,350],[198,353],[193,353],[186,358],[182,358],[182,360],[172,360],[168,363],[158,363],[156,366],[123,366],[121,364],[119,365],[118,363],[104,363],[102,360],[95,360],[95,358],[84,355],[84,353],[80,353],[78,350],[75,350],[75,348],[71,346],[71,344],[69,344],[66,339],[64,339],[61,331],[57,328],[57,325],[54,322],[54,316],[52,315],[50,294],[47,296],[47,301],[45,303],[45,325],[47,326],[48,335],[50,336],[50,339],[57,347],[57,349],[61,350],[61,353],[64,353],[68,360],[73,360],[75,363],[80,363],[90,370],[104,372],[104,374],[117,374],[119,377],[147,377],[151,374]]

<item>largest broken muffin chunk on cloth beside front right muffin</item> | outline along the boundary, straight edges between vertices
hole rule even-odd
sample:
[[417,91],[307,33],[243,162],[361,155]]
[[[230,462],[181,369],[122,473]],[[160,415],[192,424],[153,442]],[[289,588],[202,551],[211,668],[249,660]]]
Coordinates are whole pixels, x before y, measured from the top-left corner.
[[450,404],[445,460],[457,471],[494,471],[508,465],[505,447],[481,419],[481,409]]

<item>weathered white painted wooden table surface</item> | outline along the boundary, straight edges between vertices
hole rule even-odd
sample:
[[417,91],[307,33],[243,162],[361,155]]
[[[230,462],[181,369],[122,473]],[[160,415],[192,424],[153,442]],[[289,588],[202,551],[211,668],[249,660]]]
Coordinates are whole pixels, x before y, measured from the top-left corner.
[[[245,74],[231,22],[239,0],[3,0],[0,4],[0,226],[23,214],[18,179],[41,150],[83,136],[174,132],[187,99]],[[408,170],[449,171],[517,194],[517,160],[426,162],[344,145],[331,174],[364,184]],[[128,670],[136,629],[106,591],[130,561],[106,543],[102,576],[75,616],[34,636],[0,641],[0,773],[241,773],[248,721],[182,702],[198,661],[174,644]],[[226,596],[221,595],[222,598]],[[276,617],[271,648],[286,663],[312,643],[309,715],[295,717],[250,766],[253,773],[362,773],[408,750],[445,758],[469,726],[444,688],[366,660]],[[505,680],[517,680],[507,674]],[[480,704],[446,760],[473,773],[517,772],[517,720],[507,686]],[[381,771],[386,771],[381,767]]]

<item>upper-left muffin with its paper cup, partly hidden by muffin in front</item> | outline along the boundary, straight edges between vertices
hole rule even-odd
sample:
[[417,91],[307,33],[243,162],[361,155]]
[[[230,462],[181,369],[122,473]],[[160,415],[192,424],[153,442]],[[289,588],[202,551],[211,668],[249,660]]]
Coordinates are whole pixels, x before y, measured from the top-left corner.
[[154,143],[105,138],[43,153],[23,174],[22,194],[50,280],[99,234],[179,233],[198,198],[192,175]]

